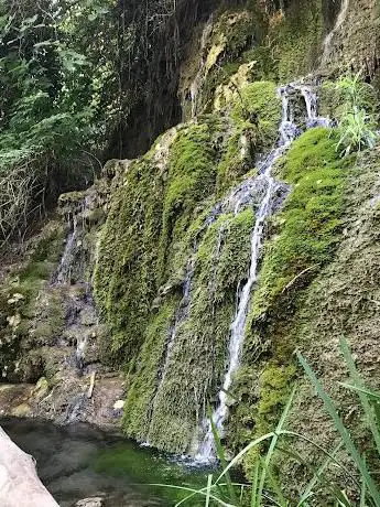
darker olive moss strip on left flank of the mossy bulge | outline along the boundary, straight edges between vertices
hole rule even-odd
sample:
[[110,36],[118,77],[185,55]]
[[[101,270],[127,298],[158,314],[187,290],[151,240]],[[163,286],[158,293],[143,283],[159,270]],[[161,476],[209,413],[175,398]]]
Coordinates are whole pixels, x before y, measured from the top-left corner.
[[[156,291],[158,248],[164,182],[145,160],[132,164],[101,234],[95,270],[95,298],[110,324],[112,349],[135,356]],[[122,355],[121,355],[122,354]]]

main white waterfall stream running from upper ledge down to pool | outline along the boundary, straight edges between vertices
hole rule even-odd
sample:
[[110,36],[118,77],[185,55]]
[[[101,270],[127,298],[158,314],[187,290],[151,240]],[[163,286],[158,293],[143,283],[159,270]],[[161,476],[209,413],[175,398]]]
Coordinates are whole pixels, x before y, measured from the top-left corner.
[[[228,368],[225,375],[222,387],[218,393],[218,407],[213,413],[213,422],[219,435],[224,433],[224,424],[228,417],[228,391],[231,388],[234,375],[240,366],[240,355],[245,339],[247,315],[251,302],[251,292],[258,280],[259,259],[264,239],[264,227],[268,217],[272,213],[273,199],[279,188],[279,183],[272,176],[272,169],[275,162],[286,152],[294,139],[300,134],[300,129],[292,121],[292,110],[290,107],[289,96],[300,91],[305,100],[307,111],[307,126],[328,125],[328,120],[317,116],[317,99],[315,94],[306,85],[290,84],[279,89],[279,95],[282,99],[282,121],[280,126],[280,141],[278,148],[273,149],[267,159],[259,164],[259,176],[256,179],[256,184],[261,184],[265,188],[262,195],[261,203],[257,211],[256,225],[251,236],[251,263],[249,269],[248,280],[241,289],[235,320],[230,328],[230,339],[228,347]],[[251,182],[252,184],[252,182]],[[250,192],[248,182],[240,185],[231,195],[242,193],[242,196],[235,202],[235,212],[239,213],[241,203],[245,202],[247,192],[241,192],[246,188]],[[229,199],[231,196],[229,197]],[[196,460],[207,462],[215,456],[214,434],[210,421],[206,421],[206,435],[198,446]]]

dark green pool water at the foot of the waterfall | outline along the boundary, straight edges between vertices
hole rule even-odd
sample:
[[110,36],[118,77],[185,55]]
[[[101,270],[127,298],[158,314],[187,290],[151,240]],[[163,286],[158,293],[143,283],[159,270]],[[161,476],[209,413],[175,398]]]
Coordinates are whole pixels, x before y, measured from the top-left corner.
[[34,456],[41,479],[62,507],[99,494],[107,496],[106,507],[173,506],[178,493],[151,484],[200,487],[207,483],[208,471],[85,424],[59,428],[7,419],[0,425]]

